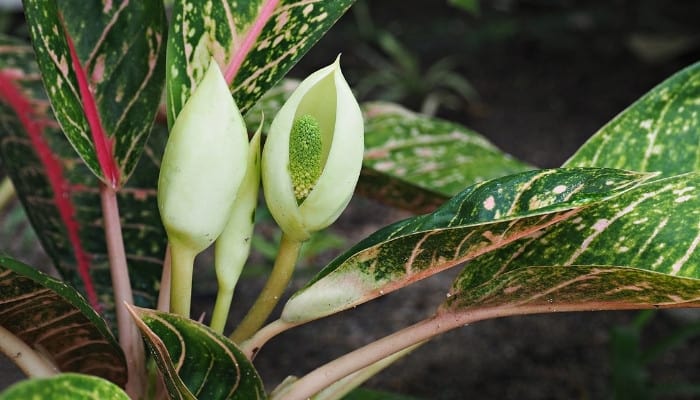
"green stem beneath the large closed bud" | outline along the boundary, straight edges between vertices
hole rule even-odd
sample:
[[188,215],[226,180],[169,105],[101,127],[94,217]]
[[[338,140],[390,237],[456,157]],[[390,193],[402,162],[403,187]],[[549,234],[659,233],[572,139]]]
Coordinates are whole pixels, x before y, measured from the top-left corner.
[[170,242],[170,311],[190,317],[192,303],[192,272],[197,255],[178,242]]

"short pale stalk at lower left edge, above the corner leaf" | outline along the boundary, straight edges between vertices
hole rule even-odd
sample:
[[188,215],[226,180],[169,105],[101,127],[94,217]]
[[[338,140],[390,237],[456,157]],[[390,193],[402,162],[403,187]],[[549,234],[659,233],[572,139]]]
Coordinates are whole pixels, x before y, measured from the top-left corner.
[[14,333],[0,326],[0,352],[30,378],[46,378],[60,371]]

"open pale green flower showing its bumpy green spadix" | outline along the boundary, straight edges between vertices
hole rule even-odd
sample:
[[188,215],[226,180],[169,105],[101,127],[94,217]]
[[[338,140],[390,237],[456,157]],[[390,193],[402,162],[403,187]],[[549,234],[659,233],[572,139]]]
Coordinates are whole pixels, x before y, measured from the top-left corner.
[[362,167],[364,124],[339,59],[299,84],[272,121],[262,181],[270,213],[303,241],[345,209]]

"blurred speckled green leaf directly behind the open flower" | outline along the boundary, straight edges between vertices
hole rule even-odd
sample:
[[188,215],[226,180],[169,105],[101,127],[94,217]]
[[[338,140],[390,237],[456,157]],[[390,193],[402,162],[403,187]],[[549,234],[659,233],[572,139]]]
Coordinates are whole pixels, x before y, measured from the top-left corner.
[[476,132],[391,103],[367,103],[358,191],[416,212],[432,211],[465,187],[534,169]]

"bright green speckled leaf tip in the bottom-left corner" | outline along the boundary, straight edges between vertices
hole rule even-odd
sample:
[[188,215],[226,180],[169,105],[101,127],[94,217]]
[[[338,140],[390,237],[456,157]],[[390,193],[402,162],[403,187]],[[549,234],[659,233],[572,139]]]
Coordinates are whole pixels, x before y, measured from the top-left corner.
[[82,374],[60,374],[22,381],[0,393],[0,400],[27,399],[129,400],[129,396],[109,381]]

